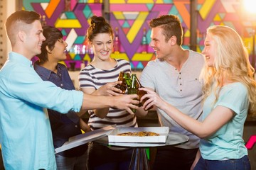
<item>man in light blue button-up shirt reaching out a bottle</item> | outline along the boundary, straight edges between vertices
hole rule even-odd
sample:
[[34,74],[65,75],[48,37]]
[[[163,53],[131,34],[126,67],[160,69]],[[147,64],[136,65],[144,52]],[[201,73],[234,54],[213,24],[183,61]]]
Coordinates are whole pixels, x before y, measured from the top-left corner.
[[41,16],[17,11],[6,20],[12,52],[0,70],[0,144],[5,169],[56,169],[48,113],[114,107],[126,109],[139,101],[137,95],[90,96],[82,91],[60,89],[43,81],[31,58],[41,53],[45,37]]

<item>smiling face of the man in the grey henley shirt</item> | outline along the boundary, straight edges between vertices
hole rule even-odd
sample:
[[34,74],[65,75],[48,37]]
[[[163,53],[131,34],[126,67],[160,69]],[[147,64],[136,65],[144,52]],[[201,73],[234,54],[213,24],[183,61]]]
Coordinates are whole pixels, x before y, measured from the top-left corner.
[[163,29],[161,27],[152,28],[151,42],[149,43],[158,59],[165,59],[171,52],[170,41],[166,42],[166,38],[162,31]]

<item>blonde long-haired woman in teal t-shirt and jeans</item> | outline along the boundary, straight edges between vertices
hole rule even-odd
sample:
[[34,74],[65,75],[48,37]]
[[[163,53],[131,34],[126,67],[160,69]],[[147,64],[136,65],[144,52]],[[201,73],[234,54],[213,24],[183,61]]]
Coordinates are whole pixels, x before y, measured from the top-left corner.
[[[247,113],[256,111],[254,69],[240,35],[228,26],[207,30],[202,69],[203,115],[198,121],[163,101],[154,91],[144,108],[155,105],[184,129],[201,137],[191,169],[250,169],[247,148],[242,140]],[[167,89],[166,89],[167,90]]]

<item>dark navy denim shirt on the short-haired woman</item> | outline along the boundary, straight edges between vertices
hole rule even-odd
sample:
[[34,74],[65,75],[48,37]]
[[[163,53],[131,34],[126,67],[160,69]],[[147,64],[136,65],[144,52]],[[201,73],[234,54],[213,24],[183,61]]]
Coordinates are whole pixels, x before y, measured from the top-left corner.
[[[45,67],[39,66],[38,64],[34,64],[34,69],[44,81],[51,81],[62,89],[75,89],[73,81],[70,79],[68,74],[68,69],[63,64],[58,63],[57,74]],[[80,135],[82,133],[79,128],[80,118],[73,111],[70,111],[67,114],[62,114],[58,111],[48,109],[48,114],[50,118],[50,126],[53,132],[53,144],[55,148],[61,147],[68,141],[69,137]],[[58,154],[64,157],[78,157],[85,153],[86,149],[87,145],[82,145]]]

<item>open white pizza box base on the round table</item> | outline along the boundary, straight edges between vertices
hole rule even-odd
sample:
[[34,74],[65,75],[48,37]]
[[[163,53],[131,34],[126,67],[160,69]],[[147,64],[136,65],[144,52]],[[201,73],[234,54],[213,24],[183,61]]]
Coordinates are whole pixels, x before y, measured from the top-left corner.
[[[159,136],[120,136],[123,132],[156,132]],[[165,143],[169,134],[169,127],[142,127],[142,128],[124,128],[117,127],[109,135],[109,142],[134,142],[134,143]]]

